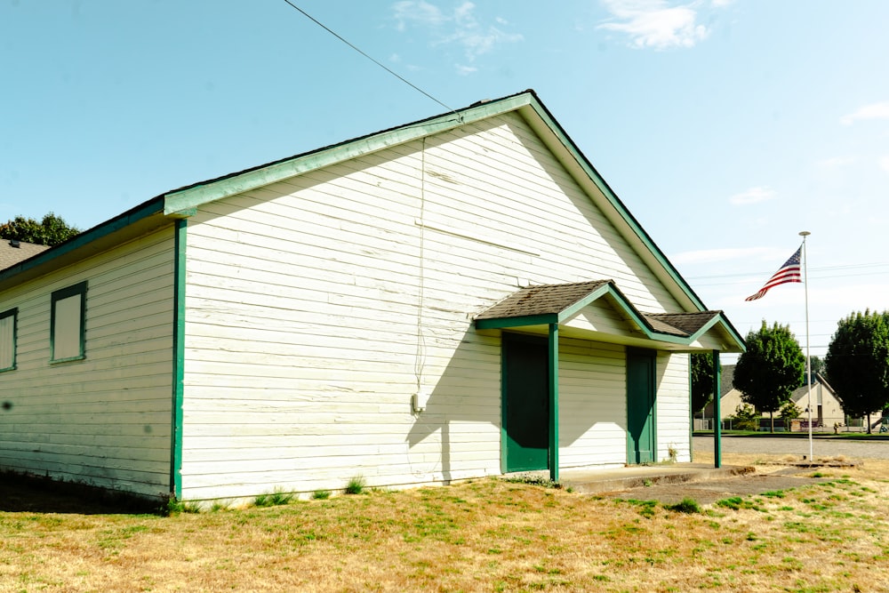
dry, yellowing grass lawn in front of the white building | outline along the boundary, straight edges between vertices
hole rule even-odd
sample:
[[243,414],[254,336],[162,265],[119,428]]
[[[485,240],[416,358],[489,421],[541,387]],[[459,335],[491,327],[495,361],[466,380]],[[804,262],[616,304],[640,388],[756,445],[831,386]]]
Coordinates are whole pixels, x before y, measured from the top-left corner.
[[700,512],[495,478],[170,517],[3,512],[0,591],[889,590],[889,462],[821,474]]

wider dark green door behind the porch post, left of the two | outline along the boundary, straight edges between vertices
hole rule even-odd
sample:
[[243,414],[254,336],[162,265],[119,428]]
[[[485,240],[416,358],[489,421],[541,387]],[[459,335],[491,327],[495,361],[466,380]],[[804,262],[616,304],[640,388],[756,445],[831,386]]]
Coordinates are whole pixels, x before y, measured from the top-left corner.
[[506,470],[549,467],[547,341],[503,336],[503,425]]

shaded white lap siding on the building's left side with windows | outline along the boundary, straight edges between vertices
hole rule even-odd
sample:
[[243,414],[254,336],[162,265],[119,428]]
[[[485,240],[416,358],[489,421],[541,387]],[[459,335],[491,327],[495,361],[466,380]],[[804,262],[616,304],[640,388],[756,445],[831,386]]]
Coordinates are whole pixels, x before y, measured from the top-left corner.
[[[169,492],[172,237],[157,231],[0,295],[19,308],[18,368],[0,373],[12,402],[0,468]],[[50,295],[84,280],[86,357],[50,364]]]

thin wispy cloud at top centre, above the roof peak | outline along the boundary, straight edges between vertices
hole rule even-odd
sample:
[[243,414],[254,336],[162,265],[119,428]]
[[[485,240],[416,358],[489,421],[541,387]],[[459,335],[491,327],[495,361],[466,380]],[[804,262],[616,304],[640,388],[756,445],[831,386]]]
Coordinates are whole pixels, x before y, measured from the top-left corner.
[[432,33],[433,46],[457,45],[470,65],[456,64],[459,74],[471,74],[478,68],[471,66],[477,58],[501,44],[523,41],[524,36],[508,33],[509,22],[495,17],[493,24],[485,24],[476,16],[476,4],[464,2],[450,12],[423,0],[404,0],[392,5],[396,28],[425,28]]

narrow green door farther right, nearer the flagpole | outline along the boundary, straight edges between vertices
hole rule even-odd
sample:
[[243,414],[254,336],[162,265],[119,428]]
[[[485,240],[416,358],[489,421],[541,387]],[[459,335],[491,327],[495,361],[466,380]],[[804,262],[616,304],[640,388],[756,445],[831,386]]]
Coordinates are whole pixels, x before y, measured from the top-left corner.
[[627,456],[629,463],[653,463],[654,355],[627,352]]

